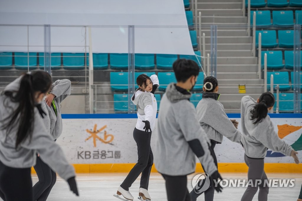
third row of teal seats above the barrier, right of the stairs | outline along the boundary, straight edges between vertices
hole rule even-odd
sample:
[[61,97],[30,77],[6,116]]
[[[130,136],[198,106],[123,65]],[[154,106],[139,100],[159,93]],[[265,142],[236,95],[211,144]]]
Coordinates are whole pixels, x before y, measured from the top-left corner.
[[[261,64],[264,67],[264,54],[267,55],[267,69],[268,70],[281,70],[284,68],[288,70],[294,69],[294,51],[284,51],[284,61],[282,51],[261,51]],[[300,58],[302,58],[302,51],[300,52]],[[302,62],[300,63],[302,67]]]

